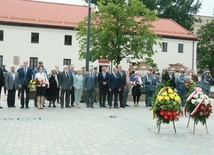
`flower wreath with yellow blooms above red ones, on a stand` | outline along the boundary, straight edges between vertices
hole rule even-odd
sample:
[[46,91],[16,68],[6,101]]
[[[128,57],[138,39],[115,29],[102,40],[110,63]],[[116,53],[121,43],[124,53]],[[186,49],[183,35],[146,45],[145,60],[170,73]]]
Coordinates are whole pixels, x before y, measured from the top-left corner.
[[178,120],[181,113],[180,97],[170,87],[163,87],[152,105],[153,116],[157,124]]

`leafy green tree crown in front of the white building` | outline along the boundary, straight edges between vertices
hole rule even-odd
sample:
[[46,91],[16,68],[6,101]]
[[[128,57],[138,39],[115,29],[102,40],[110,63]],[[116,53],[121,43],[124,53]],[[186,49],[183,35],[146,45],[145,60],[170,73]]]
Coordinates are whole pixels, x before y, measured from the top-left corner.
[[[100,0],[99,13],[92,13],[90,36],[90,60],[108,58],[119,64],[127,56],[132,59],[146,57],[148,64],[154,51],[149,46],[156,44],[158,37],[151,30],[151,22],[156,20],[140,0]],[[87,18],[78,23],[77,39],[80,43],[79,55],[86,57]]]

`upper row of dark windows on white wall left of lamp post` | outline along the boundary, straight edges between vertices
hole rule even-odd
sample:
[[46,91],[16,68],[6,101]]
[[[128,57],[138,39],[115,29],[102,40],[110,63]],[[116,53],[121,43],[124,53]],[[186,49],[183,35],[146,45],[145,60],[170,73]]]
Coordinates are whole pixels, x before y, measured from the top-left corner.
[[[0,30],[0,41],[4,41],[4,31]],[[31,33],[31,43],[39,44],[39,33],[32,32]],[[64,45],[72,45],[72,36],[65,35]]]

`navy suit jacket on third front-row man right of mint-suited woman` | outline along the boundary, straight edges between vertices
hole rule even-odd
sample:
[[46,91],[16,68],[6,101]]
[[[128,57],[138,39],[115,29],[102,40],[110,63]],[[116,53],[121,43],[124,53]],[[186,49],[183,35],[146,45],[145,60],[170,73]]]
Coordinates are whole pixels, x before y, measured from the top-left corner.
[[109,75],[109,79],[108,79],[108,88],[109,89],[121,89],[122,88],[122,82],[121,82],[121,76],[120,74],[116,74],[116,77],[114,76],[114,74],[110,74]]

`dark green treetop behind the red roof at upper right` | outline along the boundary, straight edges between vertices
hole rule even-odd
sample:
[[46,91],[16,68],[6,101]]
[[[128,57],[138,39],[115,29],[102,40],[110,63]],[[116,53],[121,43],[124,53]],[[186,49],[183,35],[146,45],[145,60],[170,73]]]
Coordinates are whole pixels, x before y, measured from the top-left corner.
[[201,7],[200,0],[141,0],[150,10],[156,10],[160,18],[171,18],[187,30],[193,30],[194,15]]

